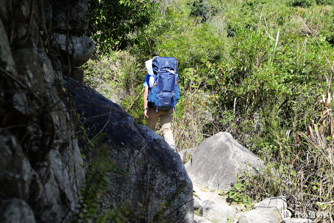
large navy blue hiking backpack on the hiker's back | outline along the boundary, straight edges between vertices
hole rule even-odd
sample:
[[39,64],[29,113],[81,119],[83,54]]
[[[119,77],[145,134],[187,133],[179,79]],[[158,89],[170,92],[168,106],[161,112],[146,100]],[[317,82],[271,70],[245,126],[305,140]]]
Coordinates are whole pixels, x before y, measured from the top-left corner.
[[174,57],[154,57],[145,62],[150,75],[148,102],[156,108],[174,108],[180,99],[178,61]]

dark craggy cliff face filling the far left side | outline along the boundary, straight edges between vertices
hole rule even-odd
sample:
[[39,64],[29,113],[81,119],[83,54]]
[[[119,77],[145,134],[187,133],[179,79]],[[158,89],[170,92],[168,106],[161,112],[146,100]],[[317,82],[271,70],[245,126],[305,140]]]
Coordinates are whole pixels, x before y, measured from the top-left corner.
[[69,222],[84,182],[50,1],[0,1],[0,222]]

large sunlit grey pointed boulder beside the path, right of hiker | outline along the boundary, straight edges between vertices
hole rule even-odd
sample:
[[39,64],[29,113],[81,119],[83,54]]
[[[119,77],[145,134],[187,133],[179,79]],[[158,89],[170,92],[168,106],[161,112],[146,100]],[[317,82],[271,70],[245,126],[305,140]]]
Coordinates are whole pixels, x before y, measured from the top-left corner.
[[204,140],[185,167],[193,182],[227,191],[231,183],[236,183],[236,175],[242,169],[252,170],[263,165],[259,157],[241,146],[229,133],[220,132]]

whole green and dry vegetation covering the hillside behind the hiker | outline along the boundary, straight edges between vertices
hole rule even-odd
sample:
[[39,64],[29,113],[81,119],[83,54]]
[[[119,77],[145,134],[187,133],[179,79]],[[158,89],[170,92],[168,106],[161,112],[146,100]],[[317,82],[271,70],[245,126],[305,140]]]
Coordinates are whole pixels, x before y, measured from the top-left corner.
[[332,5],[96,1],[91,23],[99,51],[85,65],[86,84],[108,83],[121,106],[145,125],[144,61],[174,56],[182,93],[173,115],[178,151],[229,132],[267,166],[245,173],[228,193],[235,202],[283,193],[295,212],[333,213]]

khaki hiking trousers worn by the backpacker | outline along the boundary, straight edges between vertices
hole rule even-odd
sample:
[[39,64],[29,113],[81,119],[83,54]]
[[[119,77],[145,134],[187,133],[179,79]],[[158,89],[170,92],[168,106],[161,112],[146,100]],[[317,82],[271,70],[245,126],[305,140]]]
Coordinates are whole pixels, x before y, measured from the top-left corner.
[[173,131],[171,126],[172,121],[172,109],[169,110],[159,110],[156,112],[156,108],[148,108],[146,119],[146,126],[150,129],[155,130],[158,118],[160,119],[161,131],[164,136],[164,139],[168,145],[174,145]]

